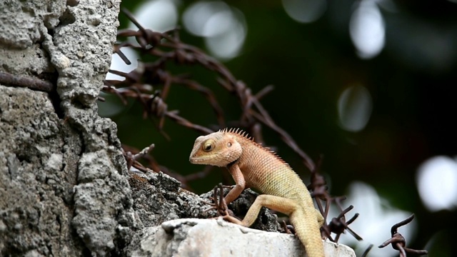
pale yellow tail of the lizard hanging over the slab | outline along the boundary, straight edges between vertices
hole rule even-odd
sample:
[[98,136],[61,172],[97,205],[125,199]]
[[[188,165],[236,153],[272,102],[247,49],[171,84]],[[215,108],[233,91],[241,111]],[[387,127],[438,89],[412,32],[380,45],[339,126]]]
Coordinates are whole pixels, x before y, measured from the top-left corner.
[[318,226],[316,213],[296,210],[289,217],[295,228],[296,235],[300,239],[308,257],[324,257],[321,231]]

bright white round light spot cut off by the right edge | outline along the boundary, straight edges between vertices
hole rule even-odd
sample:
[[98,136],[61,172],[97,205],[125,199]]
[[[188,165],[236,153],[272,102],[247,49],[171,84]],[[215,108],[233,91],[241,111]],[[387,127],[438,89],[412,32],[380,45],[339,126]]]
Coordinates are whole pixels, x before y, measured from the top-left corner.
[[435,156],[424,161],[416,176],[419,195],[430,211],[452,210],[457,206],[457,161]]

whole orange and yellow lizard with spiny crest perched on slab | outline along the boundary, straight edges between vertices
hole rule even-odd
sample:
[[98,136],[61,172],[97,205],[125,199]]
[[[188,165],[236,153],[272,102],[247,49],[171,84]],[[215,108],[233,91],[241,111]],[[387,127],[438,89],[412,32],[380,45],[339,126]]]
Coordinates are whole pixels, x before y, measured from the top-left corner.
[[245,188],[261,191],[242,221],[226,213],[224,220],[249,227],[262,206],[289,216],[309,257],[323,257],[320,227],[323,216],[314,208],[311,195],[295,171],[269,148],[253,141],[239,129],[223,129],[196,138],[189,161],[226,167],[236,185],[224,198],[234,201]]

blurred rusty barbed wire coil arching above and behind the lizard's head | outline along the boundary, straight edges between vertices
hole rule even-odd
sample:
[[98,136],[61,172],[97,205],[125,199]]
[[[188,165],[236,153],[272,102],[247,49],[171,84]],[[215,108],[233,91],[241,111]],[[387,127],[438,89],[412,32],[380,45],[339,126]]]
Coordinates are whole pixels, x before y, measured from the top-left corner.
[[[139,64],[138,68],[129,73],[109,70],[111,74],[123,76],[125,80],[105,81],[105,92],[116,94],[124,103],[126,103],[126,98],[134,98],[140,101],[144,107],[144,116],[159,119],[159,125],[157,127],[161,133],[164,133],[163,127],[165,118],[171,119],[182,126],[194,129],[200,133],[211,133],[213,130],[184,119],[178,115],[177,111],[169,111],[165,102],[171,86],[174,84],[198,91],[204,95],[211,108],[214,110],[219,129],[226,127],[227,122],[224,119],[223,111],[221,106],[219,106],[218,101],[216,101],[216,97],[211,89],[202,86],[186,76],[173,75],[170,74],[169,71],[166,71],[166,64],[169,62],[178,65],[198,64],[209,71],[216,72],[219,76],[217,82],[231,94],[237,96],[242,111],[241,118],[238,122],[239,126],[247,128],[249,133],[254,132],[253,128],[258,127],[258,124],[268,126],[278,133],[281,139],[300,156],[303,164],[310,171],[313,170],[314,163],[312,159],[298,146],[286,131],[275,124],[260,103],[260,99],[268,94],[268,92],[273,89],[273,86],[266,86],[257,94],[252,94],[251,89],[242,81],[236,80],[231,72],[219,61],[204,54],[203,51],[197,49],[195,46],[190,46],[181,42],[179,39],[179,29],[173,29],[164,33],[151,31],[150,29],[145,29],[141,26],[129,11],[126,9],[123,9],[122,11],[129,20],[138,27],[138,30],[124,29],[118,32],[118,36],[127,38],[134,37],[136,39],[136,44],[131,41],[115,44],[114,53],[119,54],[126,64],[131,64],[131,62],[122,53],[121,49],[123,47],[130,47],[131,49],[139,51],[141,54],[156,56],[157,59],[151,63]],[[161,91],[155,89],[154,86],[161,86]],[[256,136],[255,134],[256,133],[253,133],[253,136]]]

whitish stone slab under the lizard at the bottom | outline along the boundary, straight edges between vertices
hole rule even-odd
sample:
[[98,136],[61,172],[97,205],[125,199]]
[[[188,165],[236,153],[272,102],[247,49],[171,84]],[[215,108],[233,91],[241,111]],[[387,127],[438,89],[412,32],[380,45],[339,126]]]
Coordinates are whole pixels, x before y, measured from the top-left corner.
[[[143,229],[127,256],[306,256],[295,236],[218,219],[183,218]],[[348,246],[324,241],[326,256],[355,257]]]

